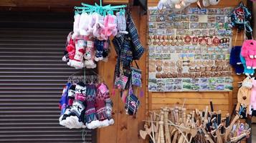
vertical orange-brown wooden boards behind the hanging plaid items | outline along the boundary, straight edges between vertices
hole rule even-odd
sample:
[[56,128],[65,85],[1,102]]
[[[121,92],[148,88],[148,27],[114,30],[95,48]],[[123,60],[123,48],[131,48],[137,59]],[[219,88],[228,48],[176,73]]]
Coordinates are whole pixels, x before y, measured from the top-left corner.
[[[133,6],[132,8],[133,21],[136,24],[137,30],[139,32],[141,43],[146,47],[146,23],[147,16],[140,14],[140,8],[138,6]],[[108,84],[110,92],[112,92],[113,87],[113,75],[115,69],[115,63],[117,56],[113,45],[110,49],[110,58],[108,62],[100,62],[98,64],[98,72],[104,77],[105,83]],[[143,54],[140,61],[138,62],[140,69],[143,71],[143,92],[146,94],[146,54]],[[139,95],[140,89],[137,90],[137,95]],[[139,97],[139,96],[138,96]],[[110,143],[142,143],[145,142],[138,135],[138,130],[143,129],[143,123],[141,122],[146,116],[146,96],[139,97],[141,101],[141,107],[138,109],[137,117],[131,117],[125,114],[124,104],[121,102],[120,93],[115,90],[115,95],[111,95],[113,100],[113,118],[115,119],[115,124],[110,127],[105,127],[98,130],[98,142],[110,142]]]

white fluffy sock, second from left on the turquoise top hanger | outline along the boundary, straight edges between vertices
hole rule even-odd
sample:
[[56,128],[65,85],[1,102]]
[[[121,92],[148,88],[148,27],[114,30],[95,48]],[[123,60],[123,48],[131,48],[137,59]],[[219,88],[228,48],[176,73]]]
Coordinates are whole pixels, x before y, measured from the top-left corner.
[[79,23],[80,35],[87,35],[89,20],[90,16],[87,13],[81,14]]

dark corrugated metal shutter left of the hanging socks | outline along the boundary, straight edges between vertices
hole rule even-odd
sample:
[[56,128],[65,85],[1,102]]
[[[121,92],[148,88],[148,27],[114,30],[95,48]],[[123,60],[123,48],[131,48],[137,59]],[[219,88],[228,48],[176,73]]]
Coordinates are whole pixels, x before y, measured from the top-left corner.
[[82,142],[80,129],[58,123],[62,87],[77,71],[61,61],[68,32],[0,29],[0,142]]

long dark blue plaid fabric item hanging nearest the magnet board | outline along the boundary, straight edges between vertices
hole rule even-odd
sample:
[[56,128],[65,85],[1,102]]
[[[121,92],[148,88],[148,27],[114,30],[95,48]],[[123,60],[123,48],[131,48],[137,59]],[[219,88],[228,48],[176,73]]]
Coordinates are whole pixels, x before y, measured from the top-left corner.
[[136,26],[131,18],[131,14],[127,16],[127,30],[129,33],[129,37],[131,38],[131,43],[133,45],[133,59],[140,59],[143,55],[145,49],[141,45],[141,41],[138,39],[138,31]]

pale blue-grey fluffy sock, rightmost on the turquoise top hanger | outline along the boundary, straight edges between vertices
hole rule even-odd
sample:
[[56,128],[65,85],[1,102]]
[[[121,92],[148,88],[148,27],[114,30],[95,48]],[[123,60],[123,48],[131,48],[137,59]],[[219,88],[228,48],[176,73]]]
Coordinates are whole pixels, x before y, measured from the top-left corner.
[[120,12],[116,13],[116,19],[118,23],[118,34],[116,36],[121,36],[122,34],[128,34],[128,31],[125,31],[126,29],[126,19],[125,14],[120,14]]

